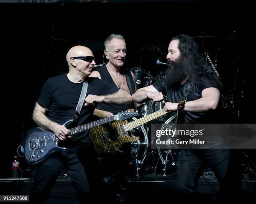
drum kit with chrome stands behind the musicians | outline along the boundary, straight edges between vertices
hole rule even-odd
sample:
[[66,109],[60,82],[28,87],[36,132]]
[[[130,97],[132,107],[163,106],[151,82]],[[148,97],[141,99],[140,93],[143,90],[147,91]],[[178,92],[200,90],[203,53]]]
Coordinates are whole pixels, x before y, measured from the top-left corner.
[[[138,67],[133,67],[130,69],[134,75],[135,75],[135,81],[136,81],[136,88],[137,90],[142,87],[147,87],[152,85],[157,80],[162,80],[166,78],[165,71],[161,70],[159,74],[156,77],[153,77],[150,73],[150,71],[143,70]],[[164,103],[161,102],[147,102],[143,106],[138,108],[138,113],[140,114],[140,117],[145,117],[153,112],[156,112],[160,109],[164,108]],[[168,118],[169,117],[169,118]],[[151,123],[170,123],[175,121],[176,114],[171,116],[169,114],[164,114],[161,117],[158,117],[151,121]],[[132,118],[131,120],[136,120],[136,118]],[[163,176],[166,176],[166,172],[168,169],[174,168],[177,171],[177,157],[178,153],[176,151],[167,150],[166,149],[151,149],[150,144],[150,138],[148,135],[150,135],[150,129],[151,129],[151,123],[148,122],[144,125],[141,125],[140,127],[131,130],[131,136],[132,137],[140,137],[140,139],[136,142],[133,142],[131,145],[131,165],[135,166],[136,169],[136,177],[140,177],[142,173],[142,164],[152,166],[149,167],[151,169],[154,169],[153,171],[156,172],[156,165],[152,164],[151,157],[153,155],[154,160],[158,161],[161,159],[162,164],[164,165],[162,171]],[[155,159],[155,158],[158,159]],[[151,163],[151,164],[149,164]],[[153,162],[154,163],[154,162]],[[154,166],[154,167],[153,167]],[[160,166],[160,165],[159,165]],[[161,167],[162,168],[162,167]]]

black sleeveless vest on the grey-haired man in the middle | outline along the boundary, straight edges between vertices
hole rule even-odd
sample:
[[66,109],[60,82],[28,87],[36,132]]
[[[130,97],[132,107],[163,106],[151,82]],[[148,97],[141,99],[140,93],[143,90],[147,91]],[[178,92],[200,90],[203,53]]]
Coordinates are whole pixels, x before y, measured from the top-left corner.
[[[97,71],[100,73],[100,77],[102,80],[105,80],[106,82],[110,83],[113,86],[116,86],[115,82],[113,81],[112,77],[110,76],[110,73],[107,70],[106,65],[103,65],[102,67],[98,68]],[[129,70],[121,70],[121,74],[124,74],[126,77],[126,80],[130,80],[130,84],[131,87],[128,84],[128,88],[131,92],[131,95],[134,93],[135,91],[135,86],[134,86],[134,82],[133,82],[133,77],[131,75],[131,72]],[[112,112],[113,114],[117,114],[118,112],[122,112],[125,111],[129,108],[134,108],[134,104],[106,104],[106,103],[99,103],[96,107],[97,109],[100,110],[104,110],[104,111],[108,111],[108,112]]]

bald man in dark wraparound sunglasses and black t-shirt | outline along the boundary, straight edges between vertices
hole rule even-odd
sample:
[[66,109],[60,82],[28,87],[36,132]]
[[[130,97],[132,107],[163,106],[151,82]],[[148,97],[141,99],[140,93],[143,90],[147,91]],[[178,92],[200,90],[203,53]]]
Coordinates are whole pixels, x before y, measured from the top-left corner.
[[62,169],[70,175],[80,203],[90,203],[91,191],[96,189],[97,182],[100,182],[93,174],[95,169],[92,169],[92,148],[87,136],[89,130],[73,134],[71,137],[70,131],[62,126],[74,117],[83,82],[88,83],[87,94],[74,127],[91,122],[89,117],[99,102],[126,104],[132,100],[127,91],[118,89],[104,80],[88,77],[95,65],[93,53],[89,48],[72,47],[67,53],[67,63],[69,72],[46,81],[33,111],[36,124],[54,132],[61,140],[61,147],[66,147],[66,150],[54,152],[39,164],[31,189],[32,203],[44,203]]

